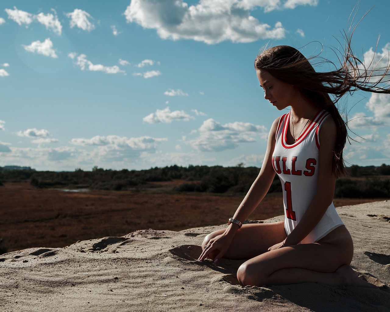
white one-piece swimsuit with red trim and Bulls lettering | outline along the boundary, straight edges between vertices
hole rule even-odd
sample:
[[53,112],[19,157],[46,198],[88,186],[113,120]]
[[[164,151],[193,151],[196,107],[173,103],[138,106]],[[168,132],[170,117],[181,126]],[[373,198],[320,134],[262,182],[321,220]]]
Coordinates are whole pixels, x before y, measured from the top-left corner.
[[[287,129],[291,112],[280,118],[272,165],[282,182],[284,202],[284,228],[289,235],[300,222],[317,191],[319,130],[330,113],[321,111],[308,124],[293,144],[287,143]],[[316,227],[301,243],[314,243],[336,227],[343,225],[332,204]]]

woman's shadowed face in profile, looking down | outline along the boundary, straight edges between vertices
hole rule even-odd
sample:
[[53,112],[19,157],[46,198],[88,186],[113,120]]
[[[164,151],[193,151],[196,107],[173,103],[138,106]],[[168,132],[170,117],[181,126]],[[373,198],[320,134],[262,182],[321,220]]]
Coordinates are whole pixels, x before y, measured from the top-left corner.
[[294,105],[299,92],[293,85],[278,80],[264,69],[257,69],[256,72],[260,86],[264,89],[264,99],[278,110]]

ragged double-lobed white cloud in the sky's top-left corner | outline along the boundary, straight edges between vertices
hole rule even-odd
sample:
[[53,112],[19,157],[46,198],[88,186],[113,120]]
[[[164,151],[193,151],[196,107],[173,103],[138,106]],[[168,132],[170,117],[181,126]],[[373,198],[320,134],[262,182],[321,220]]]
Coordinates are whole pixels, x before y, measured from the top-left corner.
[[28,25],[30,25],[34,20],[36,20],[42,25],[45,25],[46,29],[51,29],[57,35],[61,35],[62,25],[58,20],[58,16],[55,10],[51,10],[55,13],[55,15],[51,13],[43,14],[42,12],[37,15],[34,15],[25,11],[18,10],[16,9],[16,7],[14,7],[13,10],[5,9],[4,11],[7,12],[9,19],[15,21],[20,26],[22,24],[25,24],[26,27],[28,27]]

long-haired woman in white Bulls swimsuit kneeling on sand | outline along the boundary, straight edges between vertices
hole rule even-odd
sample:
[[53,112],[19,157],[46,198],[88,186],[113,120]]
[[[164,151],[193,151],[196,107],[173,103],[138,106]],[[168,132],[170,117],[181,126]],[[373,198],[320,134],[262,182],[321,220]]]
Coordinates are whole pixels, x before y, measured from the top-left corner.
[[[344,65],[329,73],[317,73],[289,46],[269,48],[256,58],[264,98],[278,110],[291,106],[291,111],[273,122],[259,176],[227,229],[206,236],[198,261],[249,259],[237,272],[243,286],[321,282],[378,288],[349,266],[353,242],[332,202],[336,178],[345,173],[347,137],[335,102],[356,89],[390,93],[378,85],[384,76],[374,81],[374,71],[363,68],[349,46]],[[242,225],[275,172],[284,190],[285,221]]]

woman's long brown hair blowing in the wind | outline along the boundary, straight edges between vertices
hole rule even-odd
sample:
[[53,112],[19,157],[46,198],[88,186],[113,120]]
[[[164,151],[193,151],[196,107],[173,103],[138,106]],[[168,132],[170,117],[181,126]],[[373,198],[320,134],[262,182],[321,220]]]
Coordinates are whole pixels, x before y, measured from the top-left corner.
[[[328,111],[337,127],[337,139],[332,161],[332,171],[336,177],[346,174],[343,149],[346,144],[347,122],[340,116],[335,103],[355,90],[376,93],[390,93],[386,88],[389,82],[389,66],[367,69],[363,62],[351,51],[351,41],[347,40],[340,68],[326,73],[316,72],[302,53],[291,46],[275,46],[260,53],[255,60],[255,68],[270,73],[278,80],[294,85],[312,105]],[[327,63],[332,62],[325,60]],[[368,67],[373,66],[373,59]],[[333,95],[333,99],[329,96]]]

